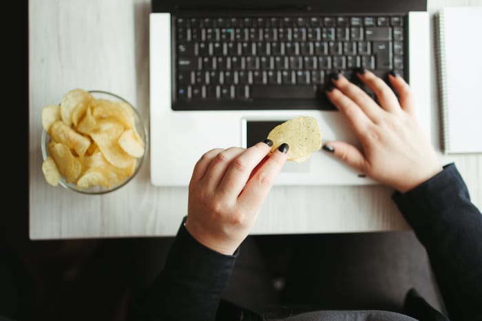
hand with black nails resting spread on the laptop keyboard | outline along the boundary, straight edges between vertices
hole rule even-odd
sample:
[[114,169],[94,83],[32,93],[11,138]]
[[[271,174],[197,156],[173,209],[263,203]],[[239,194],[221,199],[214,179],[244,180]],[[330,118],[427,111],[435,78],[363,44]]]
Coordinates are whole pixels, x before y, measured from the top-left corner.
[[342,141],[331,141],[323,149],[402,193],[417,187],[442,171],[432,144],[415,117],[415,101],[406,81],[389,74],[390,87],[368,70],[357,73],[376,95],[379,105],[342,74],[333,74],[327,96],[354,130],[362,151]]

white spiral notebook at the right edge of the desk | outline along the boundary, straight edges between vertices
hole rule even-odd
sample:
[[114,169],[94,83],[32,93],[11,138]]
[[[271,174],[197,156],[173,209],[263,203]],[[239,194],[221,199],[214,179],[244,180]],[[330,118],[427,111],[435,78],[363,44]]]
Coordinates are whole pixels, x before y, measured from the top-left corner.
[[482,7],[443,8],[434,21],[442,151],[482,153]]

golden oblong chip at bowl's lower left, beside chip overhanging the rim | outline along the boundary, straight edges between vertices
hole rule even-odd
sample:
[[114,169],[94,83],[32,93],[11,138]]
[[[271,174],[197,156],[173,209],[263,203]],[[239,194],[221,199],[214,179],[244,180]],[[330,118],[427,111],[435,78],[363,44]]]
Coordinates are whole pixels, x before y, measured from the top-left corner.
[[65,180],[74,183],[82,172],[81,161],[72,154],[69,147],[63,143],[51,141],[48,150],[59,168],[59,172],[65,176]]

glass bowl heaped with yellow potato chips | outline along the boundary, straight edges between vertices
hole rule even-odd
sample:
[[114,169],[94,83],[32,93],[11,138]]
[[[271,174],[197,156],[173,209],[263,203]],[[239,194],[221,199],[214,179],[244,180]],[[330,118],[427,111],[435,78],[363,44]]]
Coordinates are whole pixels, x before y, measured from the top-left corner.
[[147,154],[148,135],[136,108],[116,94],[74,89],[42,109],[45,181],[83,194],[126,185]]

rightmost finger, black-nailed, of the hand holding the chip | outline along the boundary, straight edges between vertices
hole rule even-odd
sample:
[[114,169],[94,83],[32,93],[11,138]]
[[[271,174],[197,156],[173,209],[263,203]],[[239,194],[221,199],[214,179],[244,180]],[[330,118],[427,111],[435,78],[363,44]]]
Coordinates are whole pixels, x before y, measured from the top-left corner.
[[[284,152],[280,152],[280,149],[283,149],[283,147],[285,148]],[[280,148],[275,149],[273,154],[266,159],[264,164],[248,180],[238,198],[241,206],[260,209],[271,187],[273,187],[277,175],[280,174],[284,163],[286,163],[288,149],[289,146],[287,144],[280,145]]]

